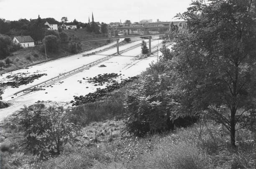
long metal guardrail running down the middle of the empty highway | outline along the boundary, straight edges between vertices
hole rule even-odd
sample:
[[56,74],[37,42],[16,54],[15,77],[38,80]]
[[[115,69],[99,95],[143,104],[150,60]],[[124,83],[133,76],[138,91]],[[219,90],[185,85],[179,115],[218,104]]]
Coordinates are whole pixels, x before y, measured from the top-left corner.
[[138,44],[138,45],[129,47],[128,49],[121,50],[119,53],[118,53],[118,52],[115,52],[114,54],[109,55],[109,56],[107,56],[107,57],[104,57],[104,58],[102,58],[102,59],[100,59],[100,60],[96,60],[96,61],[94,61],[94,62],[90,62],[90,63],[88,63],[87,65],[83,65],[83,66],[78,67],[78,68],[76,68],[76,69],[70,70],[69,72],[65,72],[65,73],[63,73],[63,74],[61,74],[61,75],[58,75],[58,76],[56,76],[56,77],[53,77],[53,78],[51,78],[51,79],[49,79],[49,80],[45,80],[44,82],[41,82],[41,83],[38,83],[38,84],[33,85],[33,86],[31,86],[31,87],[28,87],[28,88],[26,88],[26,89],[20,90],[20,91],[14,93],[13,95],[16,95],[16,96],[17,96],[17,94],[19,94],[19,93],[21,93],[21,92],[24,93],[25,91],[30,90],[30,89],[33,89],[34,87],[47,85],[47,84],[49,84],[49,83],[52,83],[52,82],[55,82],[55,81],[57,81],[57,80],[63,79],[64,77],[73,75],[73,74],[75,74],[75,73],[77,73],[77,72],[80,72],[81,70],[84,70],[84,69],[86,69],[86,68],[88,68],[88,67],[91,67],[92,65],[97,65],[98,63],[103,62],[103,61],[105,61],[105,60],[109,60],[110,58],[115,57],[117,54],[121,54],[121,53],[123,53],[123,52],[127,52],[128,50],[132,50],[132,49],[134,49],[134,48],[136,48],[136,47],[138,47],[138,46],[140,46],[140,45],[141,45],[141,44]]

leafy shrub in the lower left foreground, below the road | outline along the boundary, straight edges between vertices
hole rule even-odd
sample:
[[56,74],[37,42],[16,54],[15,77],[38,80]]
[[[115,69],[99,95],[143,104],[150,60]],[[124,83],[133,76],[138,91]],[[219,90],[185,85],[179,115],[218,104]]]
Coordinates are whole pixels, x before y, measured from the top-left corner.
[[46,108],[44,104],[24,106],[20,110],[19,124],[24,127],[24,145],[33,154],[59,155],[64,146],[80,131],[79,125],[70,123],[62,107]]

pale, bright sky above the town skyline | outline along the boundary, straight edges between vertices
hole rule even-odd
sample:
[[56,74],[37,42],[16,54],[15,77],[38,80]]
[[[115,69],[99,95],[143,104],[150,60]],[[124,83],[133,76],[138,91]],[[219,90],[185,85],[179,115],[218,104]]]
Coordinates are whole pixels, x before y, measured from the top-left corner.
[[79,22],[138,22],[139,20],[174,21],[192,0],[0,0],[0,18],[19,20],[53,17],[61,21],[67,17]]

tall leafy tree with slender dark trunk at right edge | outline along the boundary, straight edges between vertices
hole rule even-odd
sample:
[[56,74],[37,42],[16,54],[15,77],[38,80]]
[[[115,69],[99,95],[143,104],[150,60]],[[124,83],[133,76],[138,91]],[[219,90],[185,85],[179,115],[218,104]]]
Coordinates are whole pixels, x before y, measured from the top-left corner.
[[255,108],[255,7],[252,0],[201,0],[177,15],[188,28],[174,46],[181,105],[223,124],[233,147],[239,120]]

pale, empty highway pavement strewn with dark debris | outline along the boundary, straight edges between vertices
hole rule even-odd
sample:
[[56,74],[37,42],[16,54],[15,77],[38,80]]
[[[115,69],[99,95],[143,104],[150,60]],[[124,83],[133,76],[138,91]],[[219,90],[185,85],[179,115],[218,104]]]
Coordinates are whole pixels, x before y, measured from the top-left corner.
[[[124,50],[125,48],[134,46],[135,44],[139,44],[139,43],[141,43],[141,41],[133,42],[133,43],[121,46],[120,50]],[[154,42],[151,42],[152,45],[158,45],[158,43],[161,43],[161,40],[159,41],[156,40]],[[152,51],[154,51],[153,48],[152,48]],[[89,51],[87,53],[90,53],[90,52],[92,51]],[[17,70],[14,72],[4,74],[2,77],[0,77],[0,82],[6,82],[7,75],[14,75],[17,73],[27,73],[27,75],[47,73],[47,76],[40,77],[38,80],[35,80],[33,83],[30,83],[28,85],[21,85],[19,88],[7,87],[4,90],[4,94],[2,95],[3,100],[9,101],[13,103],[13,105],[5,109],[0,109],[0,119],[3,119],[8,114],[11,114],[12,112],[22,108],[24,104],[31,105],[38,100],[40,101],[50,100],[50,101],[61,103],[66,106],[71,106],[69,102],[73,99],[74,95],[76,96],[86,95],[90,92],[95,92],[96,88],[99,87],[99,86],[94,86],[91,83],[88,83],[87,80],[83,80],[83,77],[87,79],[87,78],[95,77],[99,74],[104,74],[104,73],[118,73],[118,74],[122,74],[122,76],[119,76],[116,79],[118,82],[120,82],[121,78],[125,79],[128,77],[139,75],[142,71],[146,70],[146,67],[148,67],[148,65],[151,62],[153,61],[156,62],[157,60],[157,56],[156,56],[157,53],[155,54],[155,56],[152,55],[143,60],[135,60],[134,56],[139,55],[141,53],[141,47],[137,47],[133,50],[122,53],[119,56],[113,57],[110,60],[104,61],[99,65],[90,67],[90,69],[83,70],[82,72],[79,72],[71,77],[67,77],[64,80],[61,80],[61,82],[63,82],[62,84],[60,84],[59,82],[56,82],[53,85],[51,85],[52,87],[44,87],[45,90],[28,92],[25,94],[21,93],[21,94],[18,94],[17,96],[13,96],[13,93],[21,89],[25,89],[29,86],[35,85],[39,82],[50,79],[51,77],[54,77],[56,75],[59,75],[60,73],[67,72],[76,67],[85,65],[89,62],[105,57],[105,55],[111,55],[115,52],[116,52],[116,48],[110,49],[105,52],[101,52],[99,53],[99,55],[91,55],[87,57],[82,57],[82,54],[73,55],[71,57],[54,60],[52,62],[46,62],[44,64],[35,65],[32,67],[29,67],[28,69]],[[159,52],[159,56],[160,55],[161,55],[161,52]],[[106,67],[99,67],[100,65],[105,65]],[[79,83],[80,80],[82,80],[82,83]],[[89,87],[89,88],[86,88],[86,87]],[[105,86],[100,86],[100,87],[105,88]],[[11,97],[14,97],[14,98],[12,99]]]

